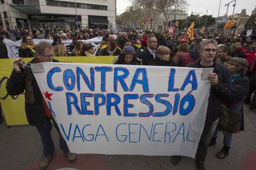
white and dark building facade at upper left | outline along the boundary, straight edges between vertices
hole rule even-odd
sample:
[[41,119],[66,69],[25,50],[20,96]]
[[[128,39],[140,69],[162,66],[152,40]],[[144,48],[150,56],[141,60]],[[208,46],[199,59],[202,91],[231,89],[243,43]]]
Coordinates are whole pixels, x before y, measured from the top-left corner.
[[16,27],[116,28],[116,0],[0,0],[0,25]]

